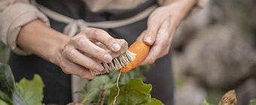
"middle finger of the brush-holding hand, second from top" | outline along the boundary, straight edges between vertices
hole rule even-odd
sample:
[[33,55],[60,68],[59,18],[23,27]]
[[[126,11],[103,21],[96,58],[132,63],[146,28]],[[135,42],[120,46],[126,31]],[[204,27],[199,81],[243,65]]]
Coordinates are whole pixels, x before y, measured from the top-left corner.
[[91,42],[87,37],[80,36],[72,39],[76,49],[80,49],[87,55],[93,56],[93,58],[99,59],[102,62],[111,62],[111,55],[105,50],[96,46],[95,43]]

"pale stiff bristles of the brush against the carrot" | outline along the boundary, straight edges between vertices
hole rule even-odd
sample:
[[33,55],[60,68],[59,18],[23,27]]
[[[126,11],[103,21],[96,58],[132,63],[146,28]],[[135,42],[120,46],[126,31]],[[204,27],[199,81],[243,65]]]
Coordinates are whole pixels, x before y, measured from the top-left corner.
[[130,52],[129,50],[127,50],[126,52],[124,52],[119,57],[114,58],[112,60],[112,62],[110,62],[110,63],[103,62],[102,66],[103,66],[104,70],[102,72],[90,71],[90,73],[93,76],[96,76],[96,75],[99,75],[99,74],[107,74],[107,73],[112,72],[112,71],[118,71],[121,68],[123,68],[124,66],[128,65],[130,62],[132,62],[135,57],[136,57],[135,53]]

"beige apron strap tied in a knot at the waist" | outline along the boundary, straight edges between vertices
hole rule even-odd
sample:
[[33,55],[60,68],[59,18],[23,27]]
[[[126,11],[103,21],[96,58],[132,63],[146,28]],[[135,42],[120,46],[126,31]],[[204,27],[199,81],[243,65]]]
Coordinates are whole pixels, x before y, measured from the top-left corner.
[[112,21],[103,21],[103,22],[95,22],[95,23],[89,23],[84,20],[74,20],[70,17],[66,17],[60,13],[56,13],[53,10],[48,9],[47,7],[44,7],[42,5],[39,5],[35,2],[35,5],[41,10],[44,14],[47,15],[47,17],[50,17],[53,20],[56,20],[60,23],[66,23],[68,24],[64,28],[64,34],[67,34],[69,36],[74,36],[79,31],[86,27],[95,27],[95,28],[117,28],[121,26],[126,26],[131,23],[136,23],[139,20],[143,20],[146,17],[150,15],[150,13],[157,8],[157,5],[152,5],[151,7],[148,7],[147,9],[143,10],[140,13],[137,13],[133,17],[129,17],[123,20],[112,20]]

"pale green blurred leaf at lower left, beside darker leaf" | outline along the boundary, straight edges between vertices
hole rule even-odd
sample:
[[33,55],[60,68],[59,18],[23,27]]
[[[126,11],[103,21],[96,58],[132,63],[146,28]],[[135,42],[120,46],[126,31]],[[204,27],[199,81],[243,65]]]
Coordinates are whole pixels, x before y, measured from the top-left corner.
[[17,97],[23,98],[27,105],[40,105],[43,100],[44,83],[38,74],[35,74],[32,80],[22,79],[17,83]]

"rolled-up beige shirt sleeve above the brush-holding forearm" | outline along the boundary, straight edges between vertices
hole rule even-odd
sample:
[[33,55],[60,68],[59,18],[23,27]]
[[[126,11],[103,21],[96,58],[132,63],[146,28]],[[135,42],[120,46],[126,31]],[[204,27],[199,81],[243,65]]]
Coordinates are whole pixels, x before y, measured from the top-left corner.
[[17,36],[20,28],[33,20],[42,20],[49,25],[47,17],[28,0],[0,1],[0,39],[5,45],[19,55],[29,55],[17,46]]

